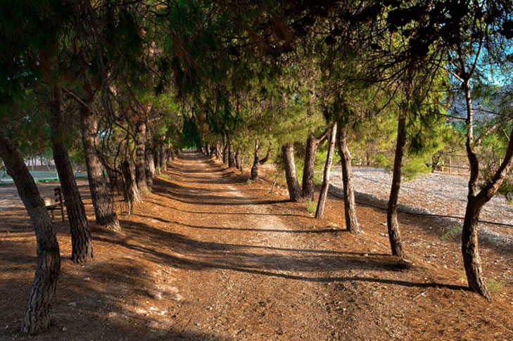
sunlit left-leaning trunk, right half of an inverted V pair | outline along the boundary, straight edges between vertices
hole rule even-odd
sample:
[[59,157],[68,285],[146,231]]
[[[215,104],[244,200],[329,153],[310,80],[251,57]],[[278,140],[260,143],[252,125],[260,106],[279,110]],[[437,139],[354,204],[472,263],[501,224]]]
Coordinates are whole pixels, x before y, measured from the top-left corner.
[[338,133],[338,147],[342,166],[342,181],[344,186],[344,214],[346,215],[346,227],[351,234],[361,233],[360,224],[356,217],[355,188],[353,186],[353,168],[351,167],[351,153],[347,140],[347,127],[342,122]]

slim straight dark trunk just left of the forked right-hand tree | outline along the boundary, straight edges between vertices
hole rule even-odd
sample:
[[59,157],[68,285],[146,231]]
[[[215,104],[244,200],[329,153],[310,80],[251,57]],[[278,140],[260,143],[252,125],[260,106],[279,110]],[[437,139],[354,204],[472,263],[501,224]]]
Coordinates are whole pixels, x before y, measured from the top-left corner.
[[406,115],[401,113],[398,120],[397,146],[395,146],[395,159],[393,162],[392,188],[390,198],[388,199],[388,210],[386,212],[386,224],[388,226],[388,238],[392,255],[401,258],[406,257],[401,241],[399,224],[397,220],[397,204],[399,198],[399,190],[401,187],[401,173],[403,170],[403,154],[406,144]]

